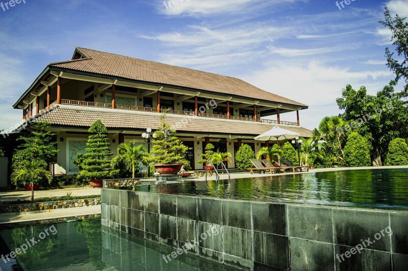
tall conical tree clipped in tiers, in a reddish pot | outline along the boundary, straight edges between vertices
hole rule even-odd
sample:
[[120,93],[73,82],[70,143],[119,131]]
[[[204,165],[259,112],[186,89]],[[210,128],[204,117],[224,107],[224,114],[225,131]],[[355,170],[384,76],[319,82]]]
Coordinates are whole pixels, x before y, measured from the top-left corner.
[[111,169],[113,153],[105,125],[98,120],[88,132],[91,135],[86,142],[85,154],[78,153],[75,160],[80,169],[78,178],[88,179],[92,187],[102,187],[102,179],[115,177],[119,170]]

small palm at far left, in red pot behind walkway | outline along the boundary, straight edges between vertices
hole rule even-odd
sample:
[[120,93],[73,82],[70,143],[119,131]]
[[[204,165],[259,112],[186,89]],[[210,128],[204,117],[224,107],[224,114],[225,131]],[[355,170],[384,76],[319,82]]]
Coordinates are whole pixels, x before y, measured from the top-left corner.
[[53,175],[46,170],[47,163],[44,160],[25,160],[21,162],[18,170],[11,174],[11,180],[14,185],[31,184],[31,201],[34,201],[34,184],[38,184],[46,178],[48,183],[53,180]]

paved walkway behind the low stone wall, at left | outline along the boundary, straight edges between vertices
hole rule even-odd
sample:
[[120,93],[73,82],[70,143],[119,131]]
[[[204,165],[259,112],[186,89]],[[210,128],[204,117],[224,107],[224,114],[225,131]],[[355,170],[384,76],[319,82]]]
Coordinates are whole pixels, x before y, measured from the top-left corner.
[[[46,197],[62,197],[66,196],[68,192],[72,192],[71,196],[90,196],[90,195],[100,195],[100,188],[92,187],[75,187],[75,188],[63,188],[63,189],[52,189],[52,190],[39,190],[34,191],[34,198],[46,198]],[[0,191],[0,202],[1,201],[12,201],[17,199],[27,199],[31,200],[31,191],[17,191],[17,190],[7,190]]]

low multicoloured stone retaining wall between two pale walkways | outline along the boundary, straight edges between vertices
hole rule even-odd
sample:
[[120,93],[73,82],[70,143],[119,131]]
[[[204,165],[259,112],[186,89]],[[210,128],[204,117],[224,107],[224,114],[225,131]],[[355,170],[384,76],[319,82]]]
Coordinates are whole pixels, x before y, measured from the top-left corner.
[[0,205],[0,214],[100,205],[100,198]]

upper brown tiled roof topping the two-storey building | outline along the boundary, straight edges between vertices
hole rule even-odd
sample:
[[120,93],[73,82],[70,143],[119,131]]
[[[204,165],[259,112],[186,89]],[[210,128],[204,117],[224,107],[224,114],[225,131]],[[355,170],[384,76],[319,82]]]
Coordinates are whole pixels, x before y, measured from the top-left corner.
[[86,58],[51,63],[49,67],[307,107],[307,105],[263,91],[245,81],[230,76],[181,68],[85,48],[77,47],[77,50],[85,55]]

